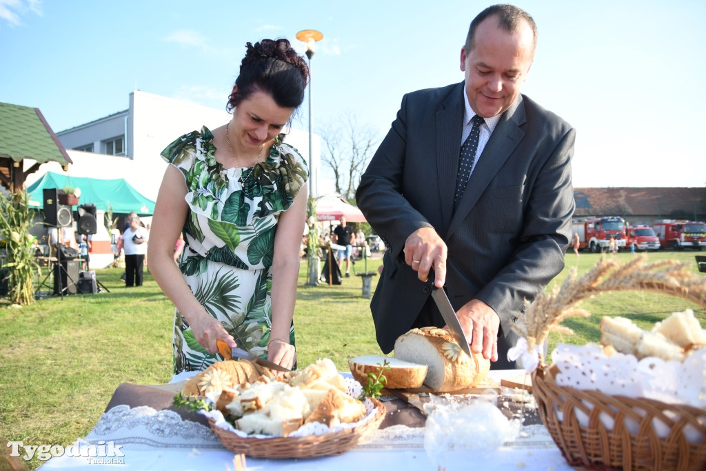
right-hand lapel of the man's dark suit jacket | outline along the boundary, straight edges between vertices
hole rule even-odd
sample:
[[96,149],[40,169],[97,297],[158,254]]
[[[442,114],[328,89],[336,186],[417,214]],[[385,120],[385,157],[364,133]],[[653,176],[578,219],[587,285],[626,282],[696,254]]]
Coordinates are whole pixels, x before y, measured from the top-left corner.
[[[527,121],[525,106],[522,104],[522,95],[519,95],[515,104],[503,113],[495,131],[493,131],[490,140],[483,149],[483,153],[481,153],[481,157],[468,180],[466,191],[463,193],[455,213],[453,213],[446,237],[458,229],[461,222],[478,201],[478,198],[498,174],[505,161],[512,155],[513,150],[522,141],[522,138],[525,137],[525,131],[520,129],[520,125],[525,124],[525,121]],[[453,206],[453,196],[451,203]]]

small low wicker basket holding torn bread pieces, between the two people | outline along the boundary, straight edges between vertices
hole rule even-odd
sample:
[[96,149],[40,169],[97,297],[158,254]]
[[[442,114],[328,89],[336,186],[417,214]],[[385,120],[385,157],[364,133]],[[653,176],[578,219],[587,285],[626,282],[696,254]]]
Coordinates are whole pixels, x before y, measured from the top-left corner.
[[217,427],[215,420],[210,417],[208,423],[225,448],[253,458],[314,458],[316,456],[340,455],[375,433],[383,422],[385,406],[379,400],[372,399],[372,401],[376,412],[370,420],[352,429],[323,435],[275,437],[272,439],[243,438],[232,431]]

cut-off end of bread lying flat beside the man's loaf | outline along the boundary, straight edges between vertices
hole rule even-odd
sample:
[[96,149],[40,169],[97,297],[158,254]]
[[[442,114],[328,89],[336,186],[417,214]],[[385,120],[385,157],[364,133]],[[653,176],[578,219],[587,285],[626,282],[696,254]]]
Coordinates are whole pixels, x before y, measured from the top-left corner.
[[353,378],[362,385],[368,383],[368,374],[377,376],[381,365],[388,362],[389,370],[383,369],[383,376],[387,379],[385,387],[393,389],[421,388],[426,378],[426,364],[405,362],[399,358],[383,357],[383,355],[367,355],[348,360],[348,366]]

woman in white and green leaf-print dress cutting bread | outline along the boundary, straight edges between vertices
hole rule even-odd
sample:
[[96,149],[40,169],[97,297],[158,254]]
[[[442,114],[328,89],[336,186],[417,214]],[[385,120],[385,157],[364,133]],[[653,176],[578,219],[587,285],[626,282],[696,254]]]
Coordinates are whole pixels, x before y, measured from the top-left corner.
[[[162,151],[167,167],[148,260],[176,306],[174,374],[222,357],[216,340],[292,368],[299,234],[308,169],[282,142],[301,102],[306,62],[287,40],[248,43],[229,96],[232,120]],[[172,256],[183,232],[179,267]]]

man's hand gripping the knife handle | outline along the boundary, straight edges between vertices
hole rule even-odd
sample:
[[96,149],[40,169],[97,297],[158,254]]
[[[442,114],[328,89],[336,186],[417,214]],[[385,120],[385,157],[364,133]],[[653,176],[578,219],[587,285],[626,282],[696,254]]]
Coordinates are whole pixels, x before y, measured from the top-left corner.
[[419,280],[426,282],[429,269],[434,269],[434,285],[441,288],[446,281],[446,244],[431,227],[422,227],[409,234],[405,241],[405,262],[417,271]]

